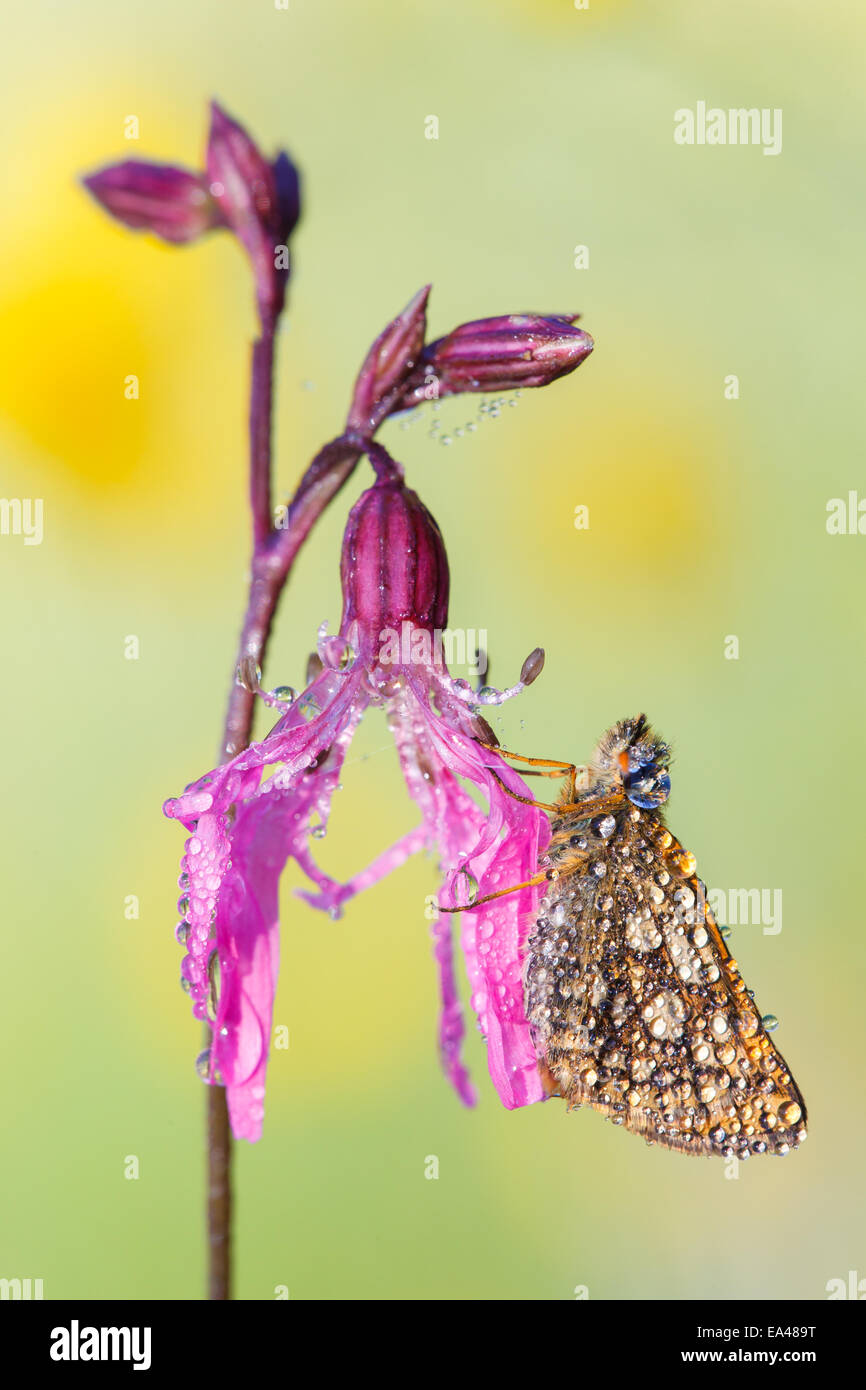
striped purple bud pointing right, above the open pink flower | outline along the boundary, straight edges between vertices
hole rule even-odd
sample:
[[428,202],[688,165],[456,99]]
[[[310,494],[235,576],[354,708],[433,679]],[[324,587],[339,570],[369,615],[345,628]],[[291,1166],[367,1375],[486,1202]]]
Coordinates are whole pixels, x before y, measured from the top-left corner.
[[460,324],[428,343],[406,382],[399,406],[420,404],[461,391],[513,391],[546,386],[574,371],[592,352],[575,314],[505,314]]

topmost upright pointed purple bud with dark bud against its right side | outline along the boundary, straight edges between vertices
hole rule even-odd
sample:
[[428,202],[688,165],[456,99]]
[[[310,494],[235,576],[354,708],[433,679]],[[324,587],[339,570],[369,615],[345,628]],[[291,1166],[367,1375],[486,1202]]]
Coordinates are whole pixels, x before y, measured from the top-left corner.
[[211,103],[210,193],[246,247],[263,317],[279,313],[289,278],[286,240],[300,208],[297,171],[286,154],[271,165],[242,125]]

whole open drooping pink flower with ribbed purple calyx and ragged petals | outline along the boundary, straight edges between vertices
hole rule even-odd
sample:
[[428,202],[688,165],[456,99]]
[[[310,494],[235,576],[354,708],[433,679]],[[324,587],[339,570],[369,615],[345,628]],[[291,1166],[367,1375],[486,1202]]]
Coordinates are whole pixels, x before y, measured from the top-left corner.
[[[436,523],[384,449],[370,443],[377,481],[353,507],[343,537],[343,613],[336,637],[320,630],[321,669],[299,698],[257,694],[281,710],[271,733],[165,802],[189,838],[182,859],[178,937],[182,979],[196,1017],[213,1030],[200,1059],[206,1080],[227,1087],[235,1137],[257,1140],[279,956],[278,881],[289,858],[313,884],[309,902],[338,917],[356,892],[409,855],[436,848],[450,901],[467,902],[532,878],[549,835],[545,816],[514,799],[530,796],[498,753],[484,748],[482,703],[506,691],[473,689],[449,676],[438,634],[448,620],[448,559]],[[257,687],[257,673],[242,678]],[[346,884],[317,866],[311,847],[327,826],[346,749],[370,705],[386,710],[410,796],[421,821]],[[277,767],[263,780],[265,766]],[[480,808],[460,780],[477,787]],[[527,924],[538,890],[525,887],[461,913],[471,1004],[488,1044],[488,1065],[509,1108],[544,1098],[523,1005]],[[434,923],[439,972],[439,1048],[460,1098],[474,1093],[460,1056],[463,1019],[455,980],[452,917]]]

